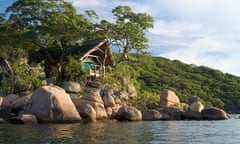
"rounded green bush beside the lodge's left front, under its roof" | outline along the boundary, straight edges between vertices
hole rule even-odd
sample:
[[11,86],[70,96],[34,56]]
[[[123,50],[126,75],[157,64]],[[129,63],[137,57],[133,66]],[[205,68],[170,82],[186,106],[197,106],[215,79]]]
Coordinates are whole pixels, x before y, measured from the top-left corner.
[[87,72],[83,69],[82,63],[74,57],[68,57],[68,61],[63,66],[64,77],[71,81],[86,80]]

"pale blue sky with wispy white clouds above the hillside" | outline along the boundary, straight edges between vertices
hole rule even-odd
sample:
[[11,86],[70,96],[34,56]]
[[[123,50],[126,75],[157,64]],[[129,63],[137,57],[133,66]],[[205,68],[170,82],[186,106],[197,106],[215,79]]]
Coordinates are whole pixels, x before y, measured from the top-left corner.
[[[15,0],[0,0],[0,12]],[[239,0],[66,0],[78,13],[94,10],[112,20],[111,10],[129,6],[154,18],[147,32],[149,52],[187,64],[240,76]]]

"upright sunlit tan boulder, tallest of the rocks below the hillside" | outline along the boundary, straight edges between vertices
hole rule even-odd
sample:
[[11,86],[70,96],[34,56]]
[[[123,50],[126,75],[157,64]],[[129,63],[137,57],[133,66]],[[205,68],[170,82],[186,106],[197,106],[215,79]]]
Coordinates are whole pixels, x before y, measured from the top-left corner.
[[171,90],[164,90],[160,97],[160,107],[170,107],[175,104],[180,104],[180,100],[175,92]]

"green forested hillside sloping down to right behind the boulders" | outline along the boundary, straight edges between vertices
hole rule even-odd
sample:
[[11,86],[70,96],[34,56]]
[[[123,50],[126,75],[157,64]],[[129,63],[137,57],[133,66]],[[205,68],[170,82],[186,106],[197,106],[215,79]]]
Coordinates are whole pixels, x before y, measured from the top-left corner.
[[205,106],[221,107],[229,112],[240,110],[240,77],[205,66],[184,64],[163,57],[133,57],[121,64],[123,74],[138,87],[139,94],[160,95],[163,89],[174,90],[181,102],[189,96],[201,97]]

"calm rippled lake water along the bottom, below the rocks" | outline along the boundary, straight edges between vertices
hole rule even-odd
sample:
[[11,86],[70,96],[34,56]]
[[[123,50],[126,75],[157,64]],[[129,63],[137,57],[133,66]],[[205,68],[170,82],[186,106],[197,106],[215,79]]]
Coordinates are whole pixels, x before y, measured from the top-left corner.
[[[234,115],[233,117],[238,117]],[[2,144],[238,144],[240,119],[0,125]]]

